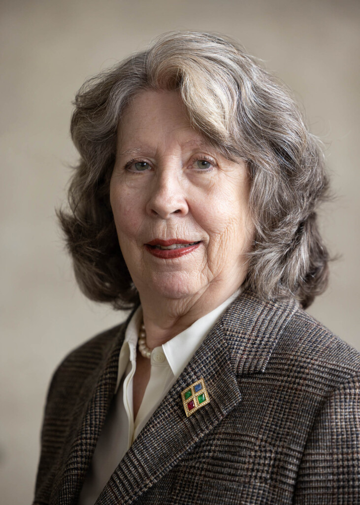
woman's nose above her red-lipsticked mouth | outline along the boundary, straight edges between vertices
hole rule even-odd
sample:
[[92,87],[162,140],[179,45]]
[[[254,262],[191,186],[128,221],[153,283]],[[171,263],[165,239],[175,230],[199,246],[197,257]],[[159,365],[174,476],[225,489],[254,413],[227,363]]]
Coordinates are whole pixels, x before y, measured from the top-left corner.
[[146,210],[150,216],[169,219],[174,214],[186,216],[189,212],[184,187],[170,167],[156,174],[149,191]]

